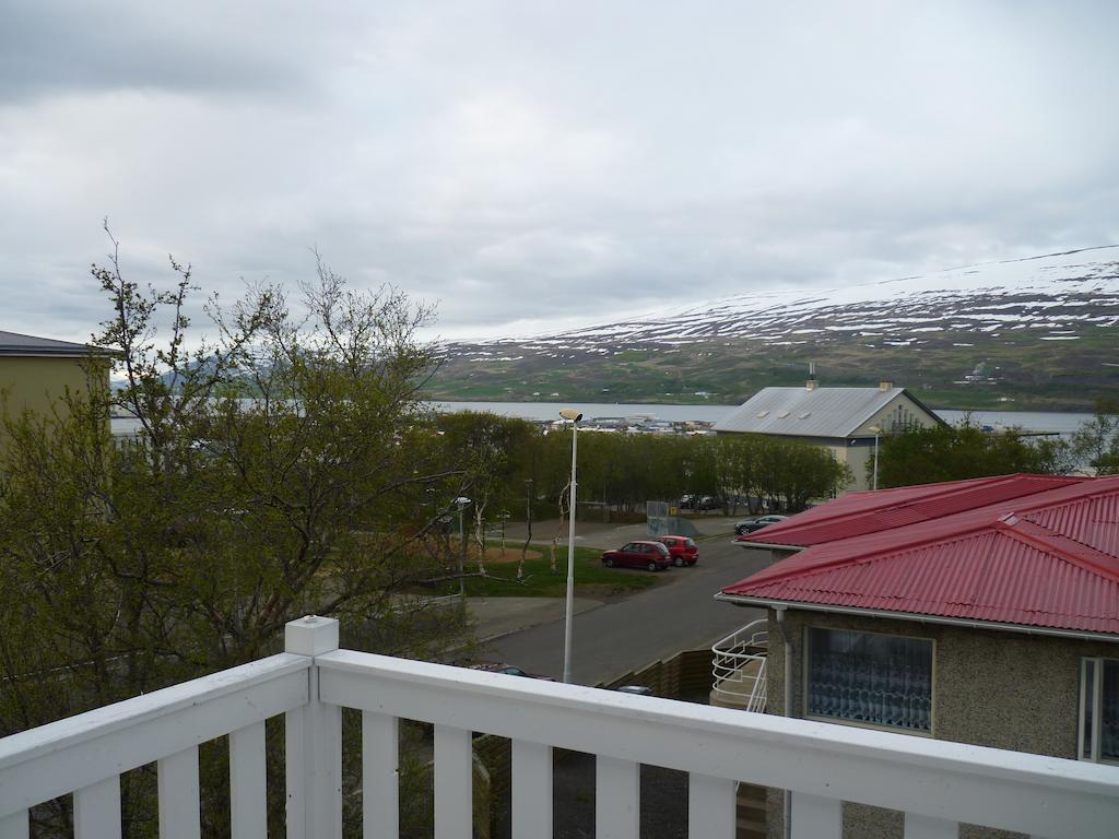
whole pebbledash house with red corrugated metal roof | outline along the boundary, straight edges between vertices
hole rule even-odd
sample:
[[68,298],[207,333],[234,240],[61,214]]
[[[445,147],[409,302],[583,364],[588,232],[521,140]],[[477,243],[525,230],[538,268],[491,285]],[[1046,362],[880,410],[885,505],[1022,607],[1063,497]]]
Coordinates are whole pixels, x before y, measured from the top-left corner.
[[742,541],[778,562],[716,597],[767,610],[768,713],[1119,763],[1119,477],[852,493]]

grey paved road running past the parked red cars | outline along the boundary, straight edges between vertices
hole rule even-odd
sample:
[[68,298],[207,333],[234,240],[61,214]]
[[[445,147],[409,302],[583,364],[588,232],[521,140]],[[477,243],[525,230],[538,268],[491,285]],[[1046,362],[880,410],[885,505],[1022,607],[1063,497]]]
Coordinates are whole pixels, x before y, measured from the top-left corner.
[[[699,543],[699,563],[661,572],[651,590],[612,600],[575,616],[572,677],[580,685],[615,679],[680,650],[705,647],[761,618],[762,610],[718,603],[713,595],[769,564],[769,552],[744,549],[731,537]],[[627,569],[629,574],[648,574]],[[563,620],[489,643],[490,657],[533,672],[563,675]]]

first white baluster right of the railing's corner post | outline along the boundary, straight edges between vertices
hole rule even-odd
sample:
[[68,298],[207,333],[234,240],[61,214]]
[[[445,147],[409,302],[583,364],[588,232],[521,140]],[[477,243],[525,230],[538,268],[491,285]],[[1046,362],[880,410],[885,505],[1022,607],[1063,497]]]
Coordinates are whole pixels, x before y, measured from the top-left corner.
[[399,723],[361,713],[361,836],[399,839]]

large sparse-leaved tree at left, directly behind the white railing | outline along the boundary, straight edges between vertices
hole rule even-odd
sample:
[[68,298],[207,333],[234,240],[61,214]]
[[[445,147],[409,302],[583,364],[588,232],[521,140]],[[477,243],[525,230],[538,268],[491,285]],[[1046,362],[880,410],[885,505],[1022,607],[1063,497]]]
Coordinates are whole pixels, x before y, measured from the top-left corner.
[[[191,345],[190,268],[172,267],[166,292],[126,280],[115,252],[94,268],[117,392],[6,421],[0,735],[273,652],[309,612],[341,618],[360,649],[436,658],[468,639],[457,610],[425,605],[453,565],[417,548],[416,499],[466,466],[416,400],[430,313],[320,264],[300,315],[254,287],[211,300],[215,338]],[[110,412],[133,417],[133,439],[112,437]],[[227,774],[210,770],[220,810]],[[153,830],[150,785],[123,779],[125,836]],[[32,818],[37,835],[69,829],[65,807]]]

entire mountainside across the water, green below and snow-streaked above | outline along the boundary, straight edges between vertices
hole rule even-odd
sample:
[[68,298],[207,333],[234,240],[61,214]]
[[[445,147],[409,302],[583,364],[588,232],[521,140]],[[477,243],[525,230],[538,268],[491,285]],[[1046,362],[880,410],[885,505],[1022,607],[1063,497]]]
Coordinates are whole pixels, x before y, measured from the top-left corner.
[[1119,398],[1119,246],[443,350],[431,388],[444,399],[734,403],[815,361],[828,385],[892,378],[941,406],[1087,411]]

